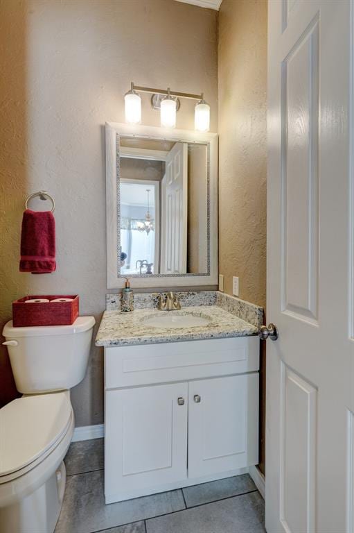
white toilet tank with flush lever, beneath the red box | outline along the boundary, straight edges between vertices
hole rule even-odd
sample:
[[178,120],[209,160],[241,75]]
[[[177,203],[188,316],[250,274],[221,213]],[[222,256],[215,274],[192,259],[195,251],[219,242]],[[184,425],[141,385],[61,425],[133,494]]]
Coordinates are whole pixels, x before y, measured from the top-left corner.
[[71,325],[3,328],[17,390],[38,394],[71,389],[85,378],[93,316],[79,316]]

